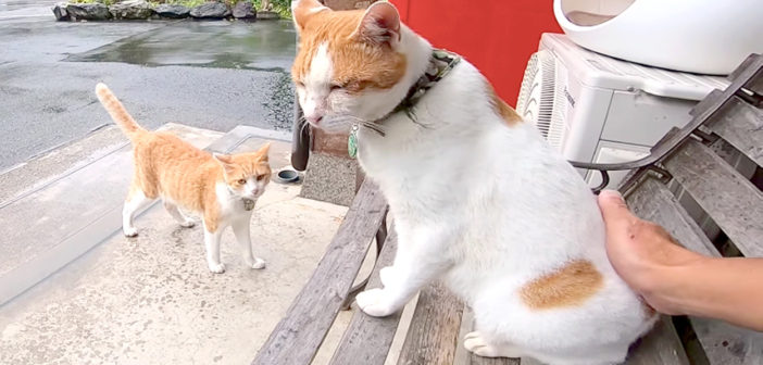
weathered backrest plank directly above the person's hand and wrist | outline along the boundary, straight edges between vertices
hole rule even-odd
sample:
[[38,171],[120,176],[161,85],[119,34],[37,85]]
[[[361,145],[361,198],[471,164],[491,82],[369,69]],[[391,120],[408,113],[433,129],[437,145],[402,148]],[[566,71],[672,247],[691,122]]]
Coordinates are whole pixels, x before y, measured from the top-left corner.
[[721,256],[702,228],[661,182],[647,178],[626,200],[637,216],[661,225],[687,249],[709,256]]

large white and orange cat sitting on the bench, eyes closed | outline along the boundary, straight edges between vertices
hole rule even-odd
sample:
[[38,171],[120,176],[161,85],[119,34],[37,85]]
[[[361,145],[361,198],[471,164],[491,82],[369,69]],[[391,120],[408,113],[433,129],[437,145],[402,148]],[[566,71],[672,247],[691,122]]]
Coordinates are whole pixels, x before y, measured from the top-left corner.
[[358,295],[359,307],[389,315],[440,278],[474,310],[464,344],[478,355],[622,362],[656,315],[610,265],[601,214],[578,173],[466,61],[418,99],[415,121],[390,114],[433,55],[390,3],[292,7],[304,116],[315,127],[359,121],[360,164],[395,216],[395,263],[382,270],[383,289]]

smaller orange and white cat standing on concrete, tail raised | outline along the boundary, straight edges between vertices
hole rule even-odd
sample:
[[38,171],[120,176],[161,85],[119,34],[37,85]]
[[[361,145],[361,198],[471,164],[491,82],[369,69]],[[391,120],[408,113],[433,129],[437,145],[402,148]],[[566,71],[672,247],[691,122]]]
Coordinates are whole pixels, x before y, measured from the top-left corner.
[[265,267],[262,259],[252,255],[249,224],[254,203],[270,181],[270,143],[252,153],[210,154],[171,134],[141,128],[105,85],[98,84],[96,95],[133,143],[135,173],[122,211],[125,236],[138,235],[133,225],[135,213],[161,198],[183,227],[192,227],[193,221],[178,206],[202,216],[207,264],[212,273],[225,272],[220,262],[220,239],[227,226],[241,246],[247,266]]

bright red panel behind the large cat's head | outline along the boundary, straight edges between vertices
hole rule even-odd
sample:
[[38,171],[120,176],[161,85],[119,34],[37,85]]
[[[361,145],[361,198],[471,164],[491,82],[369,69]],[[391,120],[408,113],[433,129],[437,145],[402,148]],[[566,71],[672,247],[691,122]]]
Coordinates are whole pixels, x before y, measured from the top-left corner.
[[525,65],[540,34],[560,33],[551,0],[391,0],[413,30],[475,64],[516,104]]

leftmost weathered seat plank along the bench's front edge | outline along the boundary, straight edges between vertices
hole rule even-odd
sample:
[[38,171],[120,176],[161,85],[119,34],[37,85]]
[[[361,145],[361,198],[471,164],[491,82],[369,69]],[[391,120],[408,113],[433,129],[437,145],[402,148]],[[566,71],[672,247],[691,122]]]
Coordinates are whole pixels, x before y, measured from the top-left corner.
[[386,212],[382,192],[366,180],[313,276],[252,364],[310,364],[339,313]]

